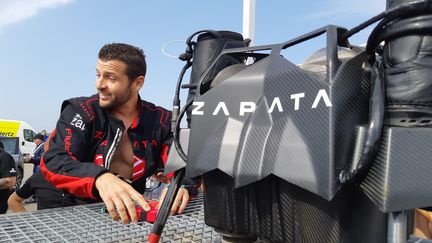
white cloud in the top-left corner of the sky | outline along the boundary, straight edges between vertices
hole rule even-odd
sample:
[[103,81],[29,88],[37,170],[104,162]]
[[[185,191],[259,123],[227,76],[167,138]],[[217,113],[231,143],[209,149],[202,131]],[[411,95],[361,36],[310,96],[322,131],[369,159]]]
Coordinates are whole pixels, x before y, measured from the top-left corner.
[[24,21],[41,10],[56,8],[74,0],[2,0],[0,3],[0,28]]

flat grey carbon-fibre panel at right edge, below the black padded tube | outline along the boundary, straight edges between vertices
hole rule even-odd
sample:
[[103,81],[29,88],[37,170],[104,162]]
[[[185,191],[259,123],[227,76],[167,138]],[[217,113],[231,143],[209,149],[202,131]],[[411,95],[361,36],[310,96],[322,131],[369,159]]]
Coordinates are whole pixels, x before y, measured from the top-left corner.
[[366,195],[383,212],[431,206],[432,128],[386,127],[380,146]]

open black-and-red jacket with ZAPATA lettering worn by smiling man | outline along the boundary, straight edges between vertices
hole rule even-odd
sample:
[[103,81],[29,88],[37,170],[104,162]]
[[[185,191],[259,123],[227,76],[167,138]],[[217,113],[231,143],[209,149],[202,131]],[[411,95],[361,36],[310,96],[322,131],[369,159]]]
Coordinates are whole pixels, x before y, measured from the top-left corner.
[[[146,178],[164,166],[172,133],[171,112],[139,102],[139,115],[127,134],[134,153],[132,186],[143,193]],[[97,95],[64,101],[41,159],[44,177],[77,197],[96,199],[95,179],[109,170],[125,132],[123,122],[99,106]]]

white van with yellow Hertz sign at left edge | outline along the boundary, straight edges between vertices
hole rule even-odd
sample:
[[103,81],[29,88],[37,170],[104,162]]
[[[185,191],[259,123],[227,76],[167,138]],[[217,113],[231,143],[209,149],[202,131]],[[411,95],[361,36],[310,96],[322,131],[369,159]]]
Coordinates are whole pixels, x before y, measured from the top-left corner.
[[0,119],[0,136],[18,137],[22,154],[31,154],[36,148],[35,129],[25,121]]

